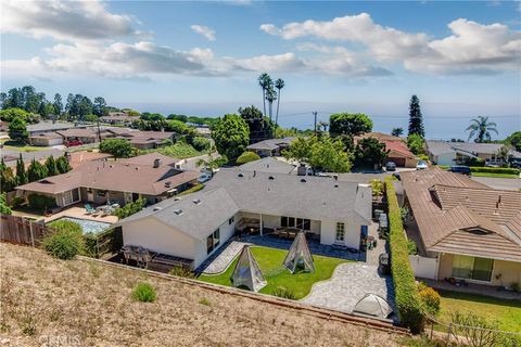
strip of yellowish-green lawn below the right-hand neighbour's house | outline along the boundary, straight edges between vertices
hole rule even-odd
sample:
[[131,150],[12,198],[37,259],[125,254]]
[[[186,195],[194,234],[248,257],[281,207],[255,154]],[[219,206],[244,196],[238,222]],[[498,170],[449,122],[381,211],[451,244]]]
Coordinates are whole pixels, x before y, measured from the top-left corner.
[[442,311],[440,319],[448,322],[450,312],[473,312],[488,320],[497,320],[499,329],[519,332],[521,326],[521,300],[499,299],[483,295],[440,291]]

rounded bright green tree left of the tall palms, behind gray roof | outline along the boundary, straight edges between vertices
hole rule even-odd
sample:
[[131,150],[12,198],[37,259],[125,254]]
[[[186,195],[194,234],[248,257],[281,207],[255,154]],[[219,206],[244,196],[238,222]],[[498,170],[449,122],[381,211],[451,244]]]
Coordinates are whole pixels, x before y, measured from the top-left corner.
[[241,116],[225,115],[212,129],[217,151],[236,163],[250,143],[250,129]]

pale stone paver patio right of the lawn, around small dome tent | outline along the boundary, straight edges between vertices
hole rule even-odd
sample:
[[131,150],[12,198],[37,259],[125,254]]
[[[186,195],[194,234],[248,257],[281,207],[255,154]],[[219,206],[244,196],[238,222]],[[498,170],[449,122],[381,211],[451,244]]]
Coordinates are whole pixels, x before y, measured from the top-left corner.
[[385,298],[394,308],[391,277],[378,273],[378,267],[363,262],[341,264],[328,281],[315,283],[301,301],[351,313],[364,295],[372,293]]

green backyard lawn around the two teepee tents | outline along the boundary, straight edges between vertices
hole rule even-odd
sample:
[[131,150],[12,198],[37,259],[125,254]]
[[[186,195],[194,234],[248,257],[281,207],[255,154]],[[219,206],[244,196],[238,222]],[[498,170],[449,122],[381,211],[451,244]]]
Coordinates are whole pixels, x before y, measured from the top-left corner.
[[[271,294],[277,287],[285,287],[288,291],[293,292],[295,299],[305,297],[309,294],[314,283],[330,279],[333,274],[334,268],[342,262],[346,262],[344,259],[314,255],[315,272],[292,274],[290,271],[282,268],[282,261],[284,260],[288,250],[258,246],[251,247],[250,249],[268,282],[268,284],[260,290],[260,293]],[[221,274],[200,275],[199,280],[231,286],[230,278],[236,267],[236,262],[237,258]]]

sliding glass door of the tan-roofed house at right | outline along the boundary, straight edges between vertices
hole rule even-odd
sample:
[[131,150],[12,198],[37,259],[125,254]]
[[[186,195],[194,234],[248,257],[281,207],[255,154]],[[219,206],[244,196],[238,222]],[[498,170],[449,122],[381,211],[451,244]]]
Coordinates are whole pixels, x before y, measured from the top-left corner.
[[493,268],[493,259],[461,255],[455,255],[453,258],[453,277],[458,279],[490,282]]

